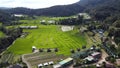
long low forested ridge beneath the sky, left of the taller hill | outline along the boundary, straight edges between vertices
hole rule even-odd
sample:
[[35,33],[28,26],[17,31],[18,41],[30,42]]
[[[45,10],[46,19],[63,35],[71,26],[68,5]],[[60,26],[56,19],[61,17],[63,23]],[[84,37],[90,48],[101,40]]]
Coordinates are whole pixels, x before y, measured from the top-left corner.
[[29,9],[29,8],[11,8],[5,9],[5,11],[12,14],[27,14],[27,15],[39,15],[39,16],[70,16],[82,12],[84,7],[78,4],[71,5],[58,5],[44,9]]

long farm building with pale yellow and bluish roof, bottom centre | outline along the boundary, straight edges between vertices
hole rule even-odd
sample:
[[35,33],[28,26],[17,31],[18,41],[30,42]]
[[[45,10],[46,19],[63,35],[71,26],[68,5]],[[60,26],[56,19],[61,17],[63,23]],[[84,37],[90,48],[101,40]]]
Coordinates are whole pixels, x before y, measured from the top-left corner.
[[56,65],[53,65],[53,68],[64,68],[73,63],[73,58],[67,58]]

